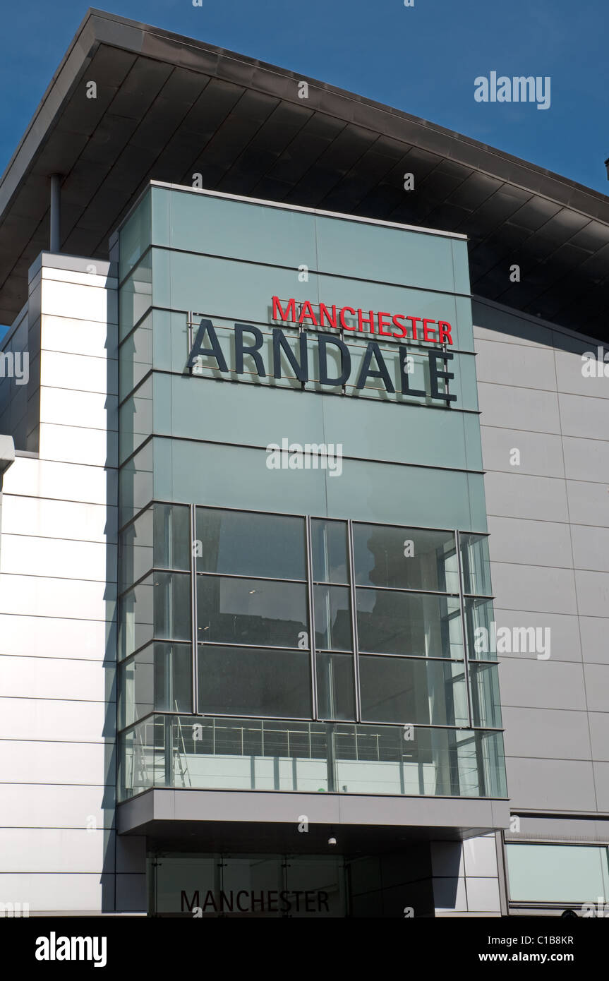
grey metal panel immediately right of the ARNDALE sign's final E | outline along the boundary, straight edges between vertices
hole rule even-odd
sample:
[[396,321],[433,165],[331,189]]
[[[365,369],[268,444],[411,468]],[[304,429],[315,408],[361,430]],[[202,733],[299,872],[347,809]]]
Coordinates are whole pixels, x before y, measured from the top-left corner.
[[499,340],[476,341],[476,374],[479,382],[548,391],[556,389],[554,352],[524,344],[506,344]]

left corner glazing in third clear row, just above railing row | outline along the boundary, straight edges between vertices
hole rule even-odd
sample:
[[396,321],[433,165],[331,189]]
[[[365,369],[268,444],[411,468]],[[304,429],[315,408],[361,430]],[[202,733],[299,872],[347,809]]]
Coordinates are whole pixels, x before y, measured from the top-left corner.
[[154,644],[120,667],[119,726],[154,709],[192,709],[192,653],[185,644]]

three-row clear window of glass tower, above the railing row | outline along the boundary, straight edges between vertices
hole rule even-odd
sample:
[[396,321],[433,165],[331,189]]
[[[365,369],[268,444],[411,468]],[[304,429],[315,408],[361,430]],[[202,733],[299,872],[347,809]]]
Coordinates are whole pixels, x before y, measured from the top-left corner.
[[154,503],[121,545],[122,727],[501,727],[485,535]]

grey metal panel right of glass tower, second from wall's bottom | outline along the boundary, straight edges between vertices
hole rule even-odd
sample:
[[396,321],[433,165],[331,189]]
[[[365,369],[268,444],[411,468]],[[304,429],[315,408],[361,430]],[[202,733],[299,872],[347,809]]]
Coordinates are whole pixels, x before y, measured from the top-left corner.
[[590,758],[586,712],[506,706],[503,725],[506,756]]

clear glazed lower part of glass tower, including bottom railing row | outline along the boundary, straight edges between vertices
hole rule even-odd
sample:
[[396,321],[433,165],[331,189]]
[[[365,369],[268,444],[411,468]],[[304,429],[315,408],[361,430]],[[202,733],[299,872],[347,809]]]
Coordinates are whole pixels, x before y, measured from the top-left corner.
[[124,796],[504,796],[485,536],[155,503],[121,544]]

